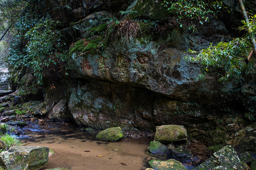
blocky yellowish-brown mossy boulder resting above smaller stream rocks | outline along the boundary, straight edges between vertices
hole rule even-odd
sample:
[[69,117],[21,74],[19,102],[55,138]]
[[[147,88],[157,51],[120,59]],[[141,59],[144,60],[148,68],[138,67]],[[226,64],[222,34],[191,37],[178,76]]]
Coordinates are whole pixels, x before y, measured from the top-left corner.
[[172,143],[179,140],[187,140],[187,131],[180,125],[156,126],[155,140],[160,143]]

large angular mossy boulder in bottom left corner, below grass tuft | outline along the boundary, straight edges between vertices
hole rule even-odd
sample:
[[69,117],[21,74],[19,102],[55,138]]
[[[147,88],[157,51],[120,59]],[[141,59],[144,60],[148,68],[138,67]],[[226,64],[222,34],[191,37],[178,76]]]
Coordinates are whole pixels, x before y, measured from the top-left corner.
[[8,151],[1,152],[0,165],[6,169],[39,170],[48,164],[48,147],[12,146]]

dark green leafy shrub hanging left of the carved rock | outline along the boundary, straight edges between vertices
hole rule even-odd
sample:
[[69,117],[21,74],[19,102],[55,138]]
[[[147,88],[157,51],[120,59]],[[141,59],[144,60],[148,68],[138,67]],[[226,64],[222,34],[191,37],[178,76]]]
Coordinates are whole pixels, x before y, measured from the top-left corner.
[[9,64],[14,67],[26,66],[43,82],[43,70],[51,64],[65,62],[66,51],[63,50],[61,34],[55,28],[58,21],[50,19],[29,20],[26,17],[16,24],[18,33],[12,38],[9,50]]

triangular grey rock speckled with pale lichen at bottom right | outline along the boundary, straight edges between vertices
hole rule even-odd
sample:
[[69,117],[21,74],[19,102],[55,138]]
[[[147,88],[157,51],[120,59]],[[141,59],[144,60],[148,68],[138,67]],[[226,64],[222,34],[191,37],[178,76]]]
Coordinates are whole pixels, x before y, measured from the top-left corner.
[[192,170],[245,170],[235,149],[227,145]]

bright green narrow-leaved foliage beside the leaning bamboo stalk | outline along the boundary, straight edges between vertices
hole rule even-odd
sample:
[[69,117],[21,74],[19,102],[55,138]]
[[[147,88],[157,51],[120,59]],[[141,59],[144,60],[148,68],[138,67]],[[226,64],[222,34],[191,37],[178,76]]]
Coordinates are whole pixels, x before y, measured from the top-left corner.
[[[256,15],[250,17],[251,31],[242,38],[233,38],[231,41],[219,42],[217,45],[210,45],[207,49],[200,52],[192,51],[191,54],[197,54],[196,57],[187,56],[185,60],[190,62],[199,62],[203,66],[198,79],[204,80],[205,74],[210,71],[221,69],[224,73],[219,73],[219,81],[233,79],[243,80],[245,75],[255,74],[255,59],[252,58],[248,65],[245,59],[252,50],[251,38],[256,36]],[[247,29],[247,24],[240,29]]]

